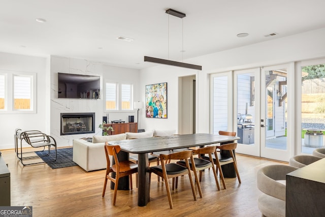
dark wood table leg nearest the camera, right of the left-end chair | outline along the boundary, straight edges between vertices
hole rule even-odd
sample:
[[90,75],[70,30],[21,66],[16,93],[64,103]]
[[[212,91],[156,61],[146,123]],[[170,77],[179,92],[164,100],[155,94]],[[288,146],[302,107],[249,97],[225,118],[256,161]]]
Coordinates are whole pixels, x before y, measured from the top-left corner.
[[138,206],[145,206],[150,201],[148,153],[138,154]]

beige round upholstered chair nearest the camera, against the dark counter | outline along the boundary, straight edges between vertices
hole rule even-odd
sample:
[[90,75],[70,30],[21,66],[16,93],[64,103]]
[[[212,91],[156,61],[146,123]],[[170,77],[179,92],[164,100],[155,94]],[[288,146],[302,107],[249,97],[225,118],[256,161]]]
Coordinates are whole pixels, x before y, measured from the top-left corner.
[[285,176],[297,170],[287,165],[268,165],[257,171],[258,209],[263,216],[285,216]]

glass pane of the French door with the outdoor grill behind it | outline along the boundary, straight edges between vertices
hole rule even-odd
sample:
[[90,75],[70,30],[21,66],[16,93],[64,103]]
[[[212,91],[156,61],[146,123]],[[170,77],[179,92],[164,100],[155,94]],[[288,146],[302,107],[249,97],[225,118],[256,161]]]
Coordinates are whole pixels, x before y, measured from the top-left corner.
[[254,144],[255,77],[253,73],[237,76],[237,135],[238,143]]

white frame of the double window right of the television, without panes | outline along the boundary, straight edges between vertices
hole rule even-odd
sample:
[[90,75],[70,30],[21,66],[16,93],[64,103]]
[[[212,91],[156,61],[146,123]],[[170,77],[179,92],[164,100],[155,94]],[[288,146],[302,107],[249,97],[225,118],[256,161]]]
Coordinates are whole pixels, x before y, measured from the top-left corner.
[[[115,83],[116,84],[116,109],[106,109],[106,84],[107,83]],[[131,102],[130,102],[130,109],[123,109],[122,110],[122,84],[131,85]],[[133,112],[134,110],[134,84],[130,82],[123,82],[123,81],[112,81],[112,80],[105,80],[104,83],[104,112]]]

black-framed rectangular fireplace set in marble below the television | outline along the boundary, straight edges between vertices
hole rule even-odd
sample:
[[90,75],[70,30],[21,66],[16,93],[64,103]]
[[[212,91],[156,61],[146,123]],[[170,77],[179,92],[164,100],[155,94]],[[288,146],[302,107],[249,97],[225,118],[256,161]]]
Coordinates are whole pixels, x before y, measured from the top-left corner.
[[95,113],[61,113],[60,135],[95,132]]

